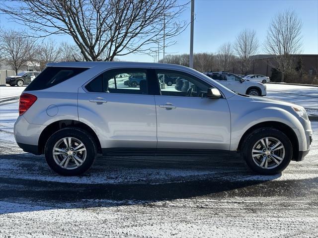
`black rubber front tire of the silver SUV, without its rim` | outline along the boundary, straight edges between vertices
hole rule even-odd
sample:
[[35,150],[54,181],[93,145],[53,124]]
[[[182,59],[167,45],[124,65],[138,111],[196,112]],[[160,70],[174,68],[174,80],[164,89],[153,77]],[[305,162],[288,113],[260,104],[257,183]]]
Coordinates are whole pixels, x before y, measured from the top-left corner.
[[[253,146],[264,137],[276,138],[285,147],[285,156],[282,162],[272,169],[265,169],[258,166],[252,157]],[[261,175],[275,175],[282,172],[289,165],[293,157],[293,146],[289,138],[282,131],[271,127],[262,127],[252,131],[244,138],[242,145],[241,153],[245,163],[252,171]]]

